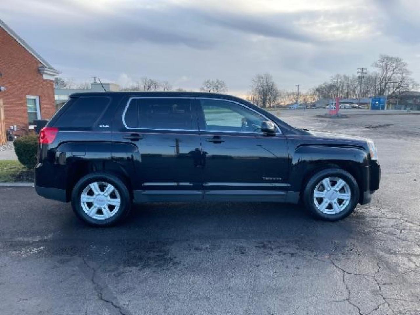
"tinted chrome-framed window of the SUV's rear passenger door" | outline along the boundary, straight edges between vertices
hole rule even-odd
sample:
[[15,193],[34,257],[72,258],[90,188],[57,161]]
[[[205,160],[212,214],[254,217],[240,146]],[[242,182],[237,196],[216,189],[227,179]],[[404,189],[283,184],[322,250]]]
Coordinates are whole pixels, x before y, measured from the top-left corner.
[[195,130],[187,98],[133,98],[124,113],[127,128]]

